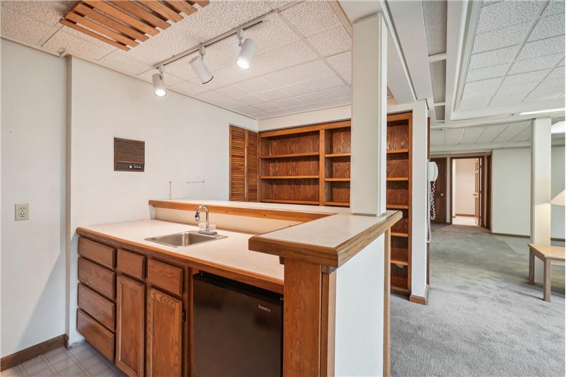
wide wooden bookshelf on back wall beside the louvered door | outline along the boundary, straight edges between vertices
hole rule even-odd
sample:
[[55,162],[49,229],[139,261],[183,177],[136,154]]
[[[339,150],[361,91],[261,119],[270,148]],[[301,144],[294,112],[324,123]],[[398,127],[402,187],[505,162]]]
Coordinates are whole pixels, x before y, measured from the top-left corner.
[[350,121],[260,132],[260,201],[350,207]]

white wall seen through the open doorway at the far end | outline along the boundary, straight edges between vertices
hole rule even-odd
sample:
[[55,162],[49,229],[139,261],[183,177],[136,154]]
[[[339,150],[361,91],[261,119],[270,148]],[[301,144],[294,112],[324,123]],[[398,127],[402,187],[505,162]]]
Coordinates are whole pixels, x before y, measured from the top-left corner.
[[477,158],[458,158],[454,160],[454,214],[475,213],[475,163]]

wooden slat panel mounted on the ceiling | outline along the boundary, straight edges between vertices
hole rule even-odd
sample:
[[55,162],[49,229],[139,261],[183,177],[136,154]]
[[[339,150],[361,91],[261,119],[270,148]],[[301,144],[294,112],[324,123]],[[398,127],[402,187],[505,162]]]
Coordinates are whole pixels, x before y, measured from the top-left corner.
[[181,13],[190,16],[197,11],[193,4],[207,6],[209,1],[80,1],[59,22],[81,33],[128,51],[157,35],[161,28],[171,26],[168,21],[183,20]]

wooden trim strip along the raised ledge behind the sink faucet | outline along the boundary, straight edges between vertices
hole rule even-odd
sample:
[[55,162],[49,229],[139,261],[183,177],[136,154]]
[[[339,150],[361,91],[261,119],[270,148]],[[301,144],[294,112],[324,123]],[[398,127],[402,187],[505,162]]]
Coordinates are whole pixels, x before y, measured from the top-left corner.
[[[200,204],[171,202],[168,200],[150,200],[149,205],[157,208],[180,209],[183,211],[195,211]],[[320,219],[333,214],[322,212],[293,211],[289,209],[265,209],[265,208],[242,208],[230,206],[208,205],[211,214],[227,214],[233,216],[258,217],[262,219],[287,220],[306,222]]]

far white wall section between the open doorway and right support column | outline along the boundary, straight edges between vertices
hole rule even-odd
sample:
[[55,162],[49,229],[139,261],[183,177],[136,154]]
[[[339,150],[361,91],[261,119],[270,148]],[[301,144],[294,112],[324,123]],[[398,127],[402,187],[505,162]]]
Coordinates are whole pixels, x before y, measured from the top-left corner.
[[531,233],[531,149],[494,149],[492,232]]

